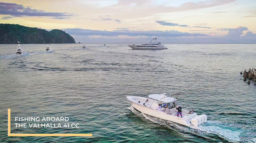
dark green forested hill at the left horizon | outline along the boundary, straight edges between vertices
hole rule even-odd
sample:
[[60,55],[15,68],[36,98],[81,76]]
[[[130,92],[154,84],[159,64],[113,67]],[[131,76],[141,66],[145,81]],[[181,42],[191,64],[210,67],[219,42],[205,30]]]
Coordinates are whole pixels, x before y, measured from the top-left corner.
[[18,24],[0,24],[0,44],[21,43],[75,43],[72,36],[65,31],[54,29],[50,32],[34,28],[25,27]]

